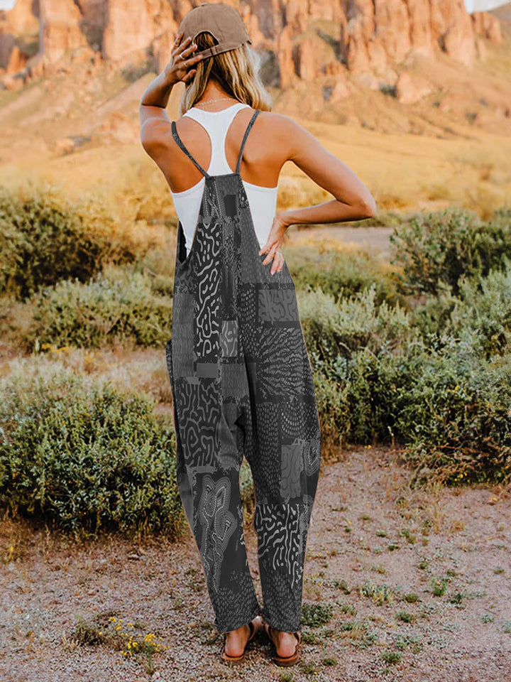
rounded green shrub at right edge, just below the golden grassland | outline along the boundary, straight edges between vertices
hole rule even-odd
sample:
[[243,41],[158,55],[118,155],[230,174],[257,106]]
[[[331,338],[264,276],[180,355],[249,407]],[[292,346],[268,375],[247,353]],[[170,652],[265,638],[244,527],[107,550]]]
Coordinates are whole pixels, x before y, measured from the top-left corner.
[[511,258],[511,211],[495,212],[489,222],[476,212],[449,207],[412,215],[390,235],[392,263],[402,266],[396,278],[405,293],[439,293],[441,285],[458,295],[458,283],[485,277]]

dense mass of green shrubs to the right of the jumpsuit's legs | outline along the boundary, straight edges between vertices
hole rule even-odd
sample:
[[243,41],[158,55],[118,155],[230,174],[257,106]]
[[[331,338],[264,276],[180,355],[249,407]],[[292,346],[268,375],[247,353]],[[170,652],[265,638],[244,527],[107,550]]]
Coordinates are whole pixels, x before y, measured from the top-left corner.
[[481,288],[463,281],[444,329],[424,335],[417,310],[377,308],[371,289],[339,304],[299,296],[324,454],[397,441],[423,479],[510,480],[511,274],[492,271]]

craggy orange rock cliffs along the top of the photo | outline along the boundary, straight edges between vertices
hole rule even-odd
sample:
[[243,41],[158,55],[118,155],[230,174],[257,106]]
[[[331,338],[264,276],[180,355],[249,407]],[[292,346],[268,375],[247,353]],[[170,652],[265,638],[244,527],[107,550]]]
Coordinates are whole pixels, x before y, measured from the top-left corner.
[[[198,0],[17,0],[0,11],[0,73],[4,87],[62,60],[149,63],[161,70],[182,16]],[[412,54],[444,53],[465,65],[484,60],[486,38],[501,40],[498,18],[466,12],[463,0],[232,0],[265,59],[265,80],[287,88],[339,76],[331,97],[348,93],[346,72],[370,87],[397,87],[403,99],[422,92],[400,82],[395,66]]]

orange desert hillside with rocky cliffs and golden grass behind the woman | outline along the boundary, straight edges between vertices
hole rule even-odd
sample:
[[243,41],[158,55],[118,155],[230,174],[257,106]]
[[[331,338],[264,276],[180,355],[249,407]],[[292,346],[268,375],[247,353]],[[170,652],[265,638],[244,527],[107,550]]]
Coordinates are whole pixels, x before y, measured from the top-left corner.
[[[194,4],[145,0],[136,21],[126,0],[16,0],[0,11],[3,181],[35,174],[112,192],[143,183],[154,169],[139,142],[138,100]],[[484,214],[510,201],[505,14],[469,14],[463,0],[233,5],[274,110],[348,163],[381,209],[458,202]],[[172,118],[181,92],[170,97]],[[158,175],[151,183],[165,190]],[[295,167],[282,183],[322,198]]]

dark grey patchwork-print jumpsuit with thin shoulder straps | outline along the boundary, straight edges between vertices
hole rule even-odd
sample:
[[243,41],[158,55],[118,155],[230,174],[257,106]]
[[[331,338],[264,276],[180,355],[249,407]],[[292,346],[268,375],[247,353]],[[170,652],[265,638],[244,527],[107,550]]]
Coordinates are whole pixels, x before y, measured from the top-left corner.
[[[287,264],[270,274],[259,254],[240,175],[205,176],[189,253],[177,226],[172,338],[177,485],[204,566],[214,624],[237,629],[261,612],[300,628],[307,533],[319,477],[320,435],[312,369]],[[255,488],[254,526],[263,593],[248,568],[239,487],[245,455]]]

